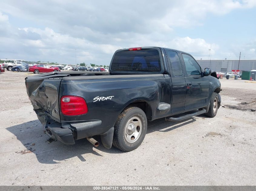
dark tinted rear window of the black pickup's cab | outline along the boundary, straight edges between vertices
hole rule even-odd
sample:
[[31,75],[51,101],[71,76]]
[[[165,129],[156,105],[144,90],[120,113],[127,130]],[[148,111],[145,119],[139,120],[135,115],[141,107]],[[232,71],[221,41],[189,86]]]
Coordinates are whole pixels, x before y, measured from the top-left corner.
[[117,52],[113,58],[112,71],[160,72],[158,50],[134,50]]

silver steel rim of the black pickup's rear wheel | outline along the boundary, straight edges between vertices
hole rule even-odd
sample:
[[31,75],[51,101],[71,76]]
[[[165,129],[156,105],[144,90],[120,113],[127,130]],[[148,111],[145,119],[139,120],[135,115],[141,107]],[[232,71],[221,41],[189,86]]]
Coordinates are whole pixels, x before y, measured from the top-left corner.
[[141,119],[136,116],[131,117],[125,125],[125,132],[124,132],[125,140],[128,143],[134,143],[140,138],[141,132],[142,132]]

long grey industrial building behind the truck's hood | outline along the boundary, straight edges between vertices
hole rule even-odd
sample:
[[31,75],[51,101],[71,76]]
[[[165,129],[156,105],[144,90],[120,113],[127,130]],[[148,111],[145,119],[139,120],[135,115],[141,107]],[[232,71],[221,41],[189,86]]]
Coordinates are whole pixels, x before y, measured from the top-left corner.
[[232,70],[240,71],[251,71],[256,70],[256,60],[247,60],[242,59],[239,62],[238,68],[238,59],[237,60],[197,60],[199,65],[202,68],[211,68],[213,71],[218,72],[231,72]]

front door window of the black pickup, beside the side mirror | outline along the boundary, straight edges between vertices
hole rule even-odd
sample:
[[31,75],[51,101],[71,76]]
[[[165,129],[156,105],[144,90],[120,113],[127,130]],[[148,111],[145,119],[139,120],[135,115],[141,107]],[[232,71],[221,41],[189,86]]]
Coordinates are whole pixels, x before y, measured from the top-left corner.
[[200,75],[201,76],[201,68],[198,63],[189,55],[182,54],[185,67],[188,75]]

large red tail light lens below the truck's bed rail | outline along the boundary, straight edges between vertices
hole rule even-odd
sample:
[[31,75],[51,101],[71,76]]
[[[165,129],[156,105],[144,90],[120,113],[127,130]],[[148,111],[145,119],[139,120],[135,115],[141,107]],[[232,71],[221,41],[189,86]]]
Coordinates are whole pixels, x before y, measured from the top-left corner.
[[78,96],[62,96],[61,112],[63,115],[75,116],[88,113],[87,104],[82,97]]

